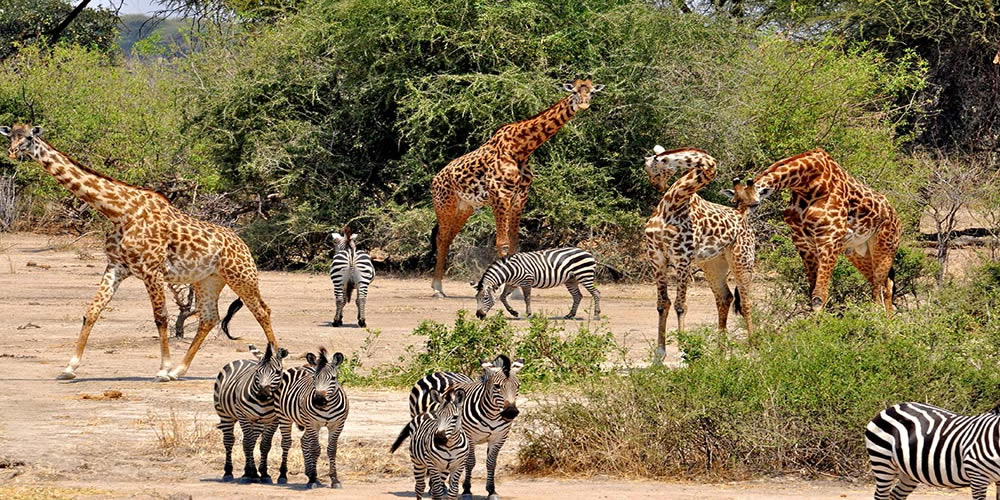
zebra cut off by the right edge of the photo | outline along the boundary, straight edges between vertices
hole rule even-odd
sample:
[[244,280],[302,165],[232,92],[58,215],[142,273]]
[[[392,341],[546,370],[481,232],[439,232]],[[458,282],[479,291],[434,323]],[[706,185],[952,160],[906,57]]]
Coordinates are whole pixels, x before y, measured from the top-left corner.
[[987,485],[1000,481],[1000,407],[964,416],[923,403],[898,404],[868,423],[865,446],[876,500],[904,499],[921,483],[971,486],[973,500],[985,500]]

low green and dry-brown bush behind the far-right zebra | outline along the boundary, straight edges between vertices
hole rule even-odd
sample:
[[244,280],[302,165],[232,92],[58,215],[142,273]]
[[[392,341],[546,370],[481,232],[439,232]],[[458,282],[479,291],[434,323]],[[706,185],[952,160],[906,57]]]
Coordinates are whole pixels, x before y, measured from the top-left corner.
[[[933,307],[887,320],[848,308],[758,329],[689,332],[676,369],[592,380],[525,415],[522,472],[742,478],[863,476],[865,424],[902,401],[975,414],[1000,399],[1000,324]],[[590,380],[590,379],[588,379]]]

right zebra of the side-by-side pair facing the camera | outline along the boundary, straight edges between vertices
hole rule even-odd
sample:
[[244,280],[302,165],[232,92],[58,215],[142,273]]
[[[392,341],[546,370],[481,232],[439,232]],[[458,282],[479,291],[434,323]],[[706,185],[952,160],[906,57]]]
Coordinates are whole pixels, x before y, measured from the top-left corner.
[[337,381],[337,367],[344,355],[336,353],[327,358],[326,349],[320,348],[319,356],[306,354],[309,366],[285,370],[278,386],[278,427],[281,428],[281,468],[278,484],[288,482],[288,449],[292,446],[292,424],[305,430],[302,435],[302,457],[306,463],[307,488],[323,486],[316,478],[319,460],[319,430],[329,431],[326,453],[330,461],[330,487],[340,488],[337,480],[337,439],[347,421],[347,395]]

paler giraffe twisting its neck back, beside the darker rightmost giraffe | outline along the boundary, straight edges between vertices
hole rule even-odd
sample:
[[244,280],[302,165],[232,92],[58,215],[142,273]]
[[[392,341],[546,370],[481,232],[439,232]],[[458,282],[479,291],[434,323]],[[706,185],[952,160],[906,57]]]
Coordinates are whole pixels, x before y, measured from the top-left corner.
[[[673,268],[677,281],[674,304],[677,329],[684,330],[692,263],[705,272],[715,295],[719,329],[726,329],[729,307],[735,305],[736,312],[746,320],[747,335],[752,339],[750,310],[756,238],[747,215],[759,200],[747,197],[744,188],[736,183],[732,192],[724,193],[738,199],[738,209],[705,201],[697,191],[715,178],[714,158],[694,148],[665,151],[656,146],[653,151],[654,155],[646,157],[646,174],[653,186],[663,192],[645,226],[646,258],[656,277],[659,314],[655,359],[662,360],[666,354],[670,270]],[[670,178],[681,169],[689,170],[668,188]],[[735,295],[727,283],[730,271],[737,282]]]

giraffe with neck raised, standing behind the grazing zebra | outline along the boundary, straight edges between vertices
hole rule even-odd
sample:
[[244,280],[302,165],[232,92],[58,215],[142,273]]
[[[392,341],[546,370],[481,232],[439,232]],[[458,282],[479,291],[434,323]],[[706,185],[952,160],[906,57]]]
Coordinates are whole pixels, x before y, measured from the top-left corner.
[[528,165],[531,153],[577,111],[590,107],[591,97],[604,85],[594,85],[586,77],[564,83],[561,88],[569,95],[527,120],[500,127],[485,144],[452,160],[434,176],[431,193],[437,225],[431,234],[431,248],[437,259],[431,287],[436,296],[445,296],[441,278],[451,242],[469,216],[484,205],[490,206],[496,220],[497,256],[517,251],[521,213],[533,178]]

